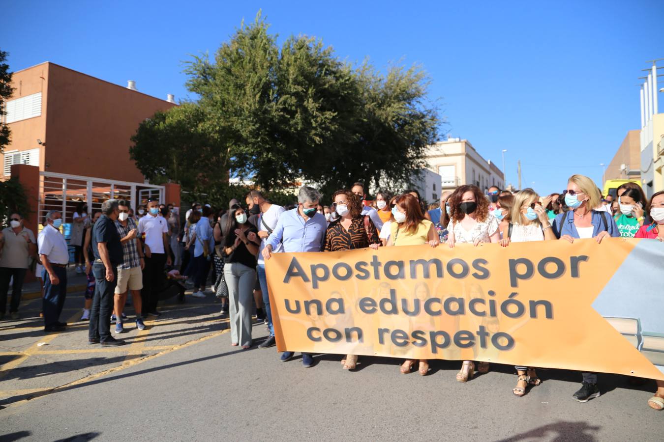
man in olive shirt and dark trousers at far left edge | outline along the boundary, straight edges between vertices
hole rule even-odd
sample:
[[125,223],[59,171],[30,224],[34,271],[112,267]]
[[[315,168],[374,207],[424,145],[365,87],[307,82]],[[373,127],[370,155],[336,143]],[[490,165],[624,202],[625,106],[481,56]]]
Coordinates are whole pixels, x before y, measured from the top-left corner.
[[23,217],[18,213],[9,215],[9,227],[0,233],[0,319],[5,317],[9,280],[13,278],[11,319],[19,319],[19,304],[23,279],[28,269],[30,258],[35,258],[37,244],[35,234],[23,227]]

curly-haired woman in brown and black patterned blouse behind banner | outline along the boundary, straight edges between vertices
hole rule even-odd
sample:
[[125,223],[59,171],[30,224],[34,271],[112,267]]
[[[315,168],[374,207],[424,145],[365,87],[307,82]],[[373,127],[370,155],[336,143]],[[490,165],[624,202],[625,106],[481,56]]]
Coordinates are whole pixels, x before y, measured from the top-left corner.
[[[339,218],[332,221],[325,231],[325,252],[341,250],[371,249],[380,247],[378,231],[369,215],[362,216],[360,199],[348,189],[337,190],[332,195],[332,205],[339,213]],[[357,355],[346,355],[341,360],[345,370],[355,370]]]

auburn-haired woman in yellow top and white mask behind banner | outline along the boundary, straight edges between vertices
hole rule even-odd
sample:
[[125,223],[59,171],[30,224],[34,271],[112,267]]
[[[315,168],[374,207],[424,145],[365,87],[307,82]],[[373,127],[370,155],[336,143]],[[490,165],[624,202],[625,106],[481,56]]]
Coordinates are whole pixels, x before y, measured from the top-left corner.
[[[391,246],[415,246],[428,244],[437,247],[439,244],[434,223],[424,219],[420,201],[414,195],[405,193],[394,199],[392,209],[394,222],[390,225],[390,239],[387,242]],[[410,373],[415,362],[419,362],[418,372],[425,376],[429,372],[428,360],[406,359],[401,365],[402,374]]]

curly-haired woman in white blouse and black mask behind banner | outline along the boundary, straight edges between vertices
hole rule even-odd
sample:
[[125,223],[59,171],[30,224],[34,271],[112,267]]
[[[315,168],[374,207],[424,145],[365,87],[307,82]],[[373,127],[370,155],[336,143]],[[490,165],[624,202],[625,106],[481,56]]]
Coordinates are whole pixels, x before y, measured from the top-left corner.
[[[450,199],[450,224],[448,241],[450,249],[456,244],[468,243],[475,246],[483,243],[497,243],[500,239],[498,220],[489,213],[489,200],[477,186],[459,186]],[[489,371],[489,362],[479,362],[477,371]],[[475,362],[464,360],[457,374],[459,382],[466,382],[475,374]]]

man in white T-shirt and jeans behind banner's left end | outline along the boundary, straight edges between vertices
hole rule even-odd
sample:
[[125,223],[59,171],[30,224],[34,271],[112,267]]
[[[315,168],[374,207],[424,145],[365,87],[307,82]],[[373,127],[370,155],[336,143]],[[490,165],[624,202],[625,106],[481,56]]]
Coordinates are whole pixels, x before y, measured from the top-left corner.
[[[258,250],[258,281],[260,282],[260,290],[263,293],[263,308],[265,310],[265,319],[268,320],[268,327],[270,328],[270,336],[268,339],[258,345],[259,349],[267,349],[272,347],[275,343],[274,340],[274,325],[272,324],[272,310],[270,309],[270,293],[268,292],[268,280],[265,276],[265,258],[263,258],[263,249],[265,249],[266,240],[272,233],[279,217],[284,213],[284,207],[270,203],[263,197],[263,194],[252,190],[250,197],[253,199],[254,207],[260,207],[260,214],[258,215],[258,237],[260,237],[260,250]],[[284,245],[281,243],[273,252],[283,252]]]

